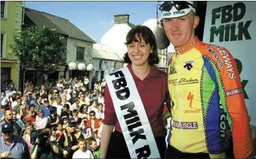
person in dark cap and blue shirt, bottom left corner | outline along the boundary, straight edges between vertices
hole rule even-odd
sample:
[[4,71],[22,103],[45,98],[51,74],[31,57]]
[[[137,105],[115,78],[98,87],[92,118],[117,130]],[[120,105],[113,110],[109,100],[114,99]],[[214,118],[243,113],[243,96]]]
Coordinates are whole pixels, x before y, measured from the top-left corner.
[[21,136],[14,135],[11,123],[1,125],[2,136],[0,144],[1,158],[29,158],[29,147]]

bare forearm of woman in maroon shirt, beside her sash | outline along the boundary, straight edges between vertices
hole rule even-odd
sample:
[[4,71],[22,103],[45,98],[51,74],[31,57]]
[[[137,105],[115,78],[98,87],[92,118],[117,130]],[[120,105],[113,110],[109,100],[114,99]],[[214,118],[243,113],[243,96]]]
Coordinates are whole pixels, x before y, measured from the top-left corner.
[[100,158],[106,158],[106,151],[109,147],[109,139],[113,132],[113,125],[105,125],[103,124],[102,136],[100,139]]

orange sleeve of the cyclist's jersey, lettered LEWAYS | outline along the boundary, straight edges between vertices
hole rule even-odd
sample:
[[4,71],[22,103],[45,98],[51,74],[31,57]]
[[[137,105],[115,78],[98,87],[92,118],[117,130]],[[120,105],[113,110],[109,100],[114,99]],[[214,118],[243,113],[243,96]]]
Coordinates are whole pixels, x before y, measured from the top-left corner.
[[253,151],[251,139],[250,117],[245,105],[244,90],[242,88],[236,61],[224,47],[215,47],[214,51],[221,60],[215,60],[221,105],[227,112],[228,122],[233,135],[233,151],[236,158],[245,158]]

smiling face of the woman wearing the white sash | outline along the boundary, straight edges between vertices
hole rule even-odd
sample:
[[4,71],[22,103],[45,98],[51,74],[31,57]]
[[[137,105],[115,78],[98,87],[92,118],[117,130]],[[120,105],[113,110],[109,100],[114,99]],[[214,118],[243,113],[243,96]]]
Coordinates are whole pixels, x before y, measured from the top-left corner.
[[148,65],[148,58],[150,57],[150,54],[153,53],[153,50],[150,47],[150,44],[146,44],[142,37],[140,37],[139,35],[135,35],[135,37],[137,38],[137,42],[133,41],[131,44],[127,45],[128,57],[130,58],[131,63],[134,66]]

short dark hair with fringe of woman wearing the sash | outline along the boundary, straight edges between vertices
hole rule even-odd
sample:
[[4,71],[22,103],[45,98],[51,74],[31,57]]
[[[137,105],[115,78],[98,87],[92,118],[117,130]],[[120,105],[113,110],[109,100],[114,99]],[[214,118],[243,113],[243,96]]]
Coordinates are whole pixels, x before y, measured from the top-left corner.
[[[136,35],[139,35],[139,39],[136,38]],[[150,54],[150,57],[148,58],[148,62],[150,66],[153,66],[154,64],[159,63],[159,57],[157,54],[157,44],[156,44],[156,37],[153,34],[152,30],[148,28],[147,26],[135,26],[132,28],[127,36],[126,36],[126,42],[125,44],[131,44],[132,42],[140,42],[141,38],[146,42],[146,44],[150,44],[150,47],[153,50],[153,53]],[[131,59],[128,57],[128,52],[123,57],[124,63],[131,64]]]

